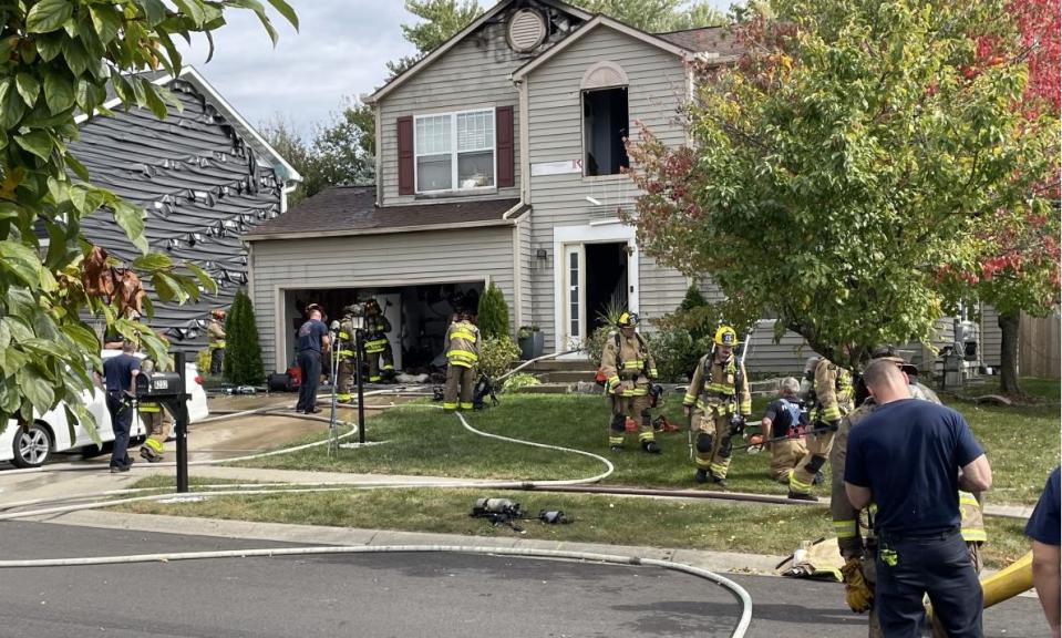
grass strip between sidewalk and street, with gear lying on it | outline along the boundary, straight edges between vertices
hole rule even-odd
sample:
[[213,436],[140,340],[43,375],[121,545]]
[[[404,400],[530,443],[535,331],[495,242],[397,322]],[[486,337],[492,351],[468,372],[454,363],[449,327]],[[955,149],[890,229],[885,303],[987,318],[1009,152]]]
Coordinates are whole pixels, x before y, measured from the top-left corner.
[[[141,482],[137,485],[164,484],[158,478],[145,481],[151,483]],[[517,535],[508,527],[493,527],[485,519],[468,516],[473,503],[482,496],[509,498],[520,503],[533,516],[542,510],[563,510],[573,521],[570,524],[544,525],[538,521],[519,523],[526,531],[520,535],[522,538],[540,541],[787,555],[796,549],[800,541],[828,536],[833,527],[829,513],[815,507],[472,490],[365,490],[217,496],[199,503],[135,503],[121,508],[142,514],[265,523],[464,536]],[[991,542],[984,552],[989,566],[1007,565],[1029,550],[1021,527],[1018,521],[990,519]]]

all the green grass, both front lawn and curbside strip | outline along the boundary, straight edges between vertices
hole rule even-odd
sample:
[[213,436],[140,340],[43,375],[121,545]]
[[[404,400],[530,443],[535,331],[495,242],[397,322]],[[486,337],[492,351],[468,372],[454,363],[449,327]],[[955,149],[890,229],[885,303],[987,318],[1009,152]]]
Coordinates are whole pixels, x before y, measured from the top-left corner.
[[[1048,473],[1059,463],[1058,381],[1027,380],[1027,391],[1043,398],[1034,407],[978,407],[950,401],[962,412],[994,470],[996,486],[990,503],[1033,503]],[[755,402],[762,411],[765,400]],[[680,399],[667,398],[664,413],[679,424]],[[663,454],[636,450],[610,453],[606,446],[608,412],[601,397],[505,395],[502,405],[467,416],[485,432],[564,445],[608,456],[616,472],[610,485],[692,487],[685,432],[659,434]],[[310,440],[320,440],[320,434]],[[592,476],[602,464],[571,453],[539,450],[485,439],[462,428],[456,416],[429,403],[400,407],[368,422],[370,441],[386,444],[362,450],[341,450],[328,455],[323,447],[270,456],[243,465],[353,473],[465,476],[476,478],[557,480]],[[734,456],[730,488],[783,495],[786,488],[766,475],[766,454]],[[167,478],[149,478],[143,486],[163,486]],[[225,483],[193,480],[193,485]],[[171,483],[172,484],[172,483]],[[703,486],[703,490],[715,490]],[[828,484],[817,488],[828,495]],[[508,536],[514,532],[492,527],[468,517],[480,496],[503,496],[520,502],[525,510],[564,510],[570,525],[548,526],[530,521],[527,538],[590,542],[618,545],[689,547],[695,549],[788,554],[801,541],[832,536],[829,513],[817,507],[794,507],[708,501],[660,501],[606,495],[482,492],[471,490],[379,490],[277,496],[216,497],[196,504],[140,503],[126,511],[243,521],[338,525],[382,529],[441,532],[467,536]],[[1002,566],[1029,548],[1022,522],[988,519],[989,566]]]

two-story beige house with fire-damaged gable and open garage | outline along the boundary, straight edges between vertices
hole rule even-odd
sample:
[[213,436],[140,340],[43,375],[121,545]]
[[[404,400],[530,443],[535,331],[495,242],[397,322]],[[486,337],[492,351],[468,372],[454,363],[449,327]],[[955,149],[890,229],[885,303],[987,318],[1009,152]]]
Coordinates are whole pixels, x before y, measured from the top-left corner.
[[[556,0],[503,0],[367,97],[375,186],[329,189],[245,236],[267,367],[293,359],[310,301],[334,318],[375,296],[400,368],[441,352],[453,310],[492,282],[513,329],[540,327],[547,351],[577,346],[609,302],[673,311],[689,280],[618,217],[638,195],[623,141],[646,125],[685,142],[688,62],[738,53],[722,28],[651,34]],[[755,348],[762,370],[800,370],[811,353],[792,333],[774,343],[766,322]]]

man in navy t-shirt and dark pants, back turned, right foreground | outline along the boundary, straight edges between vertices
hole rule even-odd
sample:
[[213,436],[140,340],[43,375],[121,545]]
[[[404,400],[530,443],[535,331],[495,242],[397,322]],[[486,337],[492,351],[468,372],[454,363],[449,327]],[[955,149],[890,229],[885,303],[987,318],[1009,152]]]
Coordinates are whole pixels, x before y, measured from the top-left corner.
[[924,595],[951,638],[980,638],[982,593],[959,533],[961,487],[983,492],[992,469],[962,415],[913,399],[891,361],[864,374],[877,410],[848,434],[845,492],[857,508],[877,504],[875,591],[886,638],[917,638]]

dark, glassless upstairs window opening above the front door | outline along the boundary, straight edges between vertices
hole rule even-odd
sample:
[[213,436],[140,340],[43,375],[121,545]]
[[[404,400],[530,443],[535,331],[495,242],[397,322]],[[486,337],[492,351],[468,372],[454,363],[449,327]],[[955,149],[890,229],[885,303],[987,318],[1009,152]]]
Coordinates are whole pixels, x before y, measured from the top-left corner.
[[630,166],[625,145],[629,131],[627,86],[582,92],[582,166],[587,176],[617,175]]

